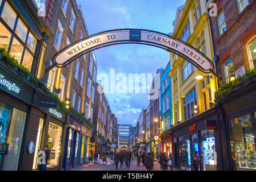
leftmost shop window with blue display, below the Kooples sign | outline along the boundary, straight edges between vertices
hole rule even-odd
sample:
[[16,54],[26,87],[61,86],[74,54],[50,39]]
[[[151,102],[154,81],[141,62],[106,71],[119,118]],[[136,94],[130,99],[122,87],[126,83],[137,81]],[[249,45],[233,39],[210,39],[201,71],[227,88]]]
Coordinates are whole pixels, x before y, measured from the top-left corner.
[[16,171],[26,113],[0,102],[0,143],[9,144],[7,155],[0,155],[3,171]]

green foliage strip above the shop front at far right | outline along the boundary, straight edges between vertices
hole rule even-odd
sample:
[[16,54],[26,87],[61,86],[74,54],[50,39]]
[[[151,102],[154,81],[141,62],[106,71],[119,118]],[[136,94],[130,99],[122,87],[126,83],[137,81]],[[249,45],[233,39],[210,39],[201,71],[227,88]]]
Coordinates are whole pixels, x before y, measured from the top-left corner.
[[234,81],[230,81],[224,84],[221,88],[215,92],[215,102],[223,100],[229,93],[234,90],[240,90],[246,88],[250,81],[256,78],[256,68],[246,71],[245,75],[238,77]]

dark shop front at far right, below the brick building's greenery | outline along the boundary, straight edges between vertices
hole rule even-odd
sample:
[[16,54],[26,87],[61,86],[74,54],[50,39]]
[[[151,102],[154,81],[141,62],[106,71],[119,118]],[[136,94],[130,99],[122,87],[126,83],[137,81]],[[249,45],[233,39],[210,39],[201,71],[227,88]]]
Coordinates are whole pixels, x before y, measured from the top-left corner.
[[[222,114],[225,169],[256,170],[256,80],[218,103]],[[226,133],[226,135],[224,135]],[[226,147],[226,148],[225,148]]]

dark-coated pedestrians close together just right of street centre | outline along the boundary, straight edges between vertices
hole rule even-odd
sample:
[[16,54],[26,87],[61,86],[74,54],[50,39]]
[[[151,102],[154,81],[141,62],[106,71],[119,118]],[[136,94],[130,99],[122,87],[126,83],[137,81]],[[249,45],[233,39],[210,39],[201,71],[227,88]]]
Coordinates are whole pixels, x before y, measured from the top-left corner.
[[141,166],[141,162],[143,166],[146,167],[147,171],[151,171],[154,167],[154,156],[153,153],[148,152],[147,155],[145,152],[135,152],[135,157],[137,159],[137,166]]

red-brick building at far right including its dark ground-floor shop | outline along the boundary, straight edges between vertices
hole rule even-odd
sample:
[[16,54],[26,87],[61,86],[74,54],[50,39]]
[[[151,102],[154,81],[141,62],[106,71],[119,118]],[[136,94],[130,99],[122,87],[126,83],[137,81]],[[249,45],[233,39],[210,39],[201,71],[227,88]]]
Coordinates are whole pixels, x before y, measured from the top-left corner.
[[[222,169],[255,170],[256,82],[245,72],[255,71],[256,1],[213,2],[217,4],[217,17],[210,17],[210,22],[219,85],[229,89],[233,84],[235,88],[217,98],[216,104]],[[248,80],[246,85],[238,84],[239,76]]]

